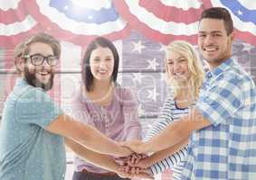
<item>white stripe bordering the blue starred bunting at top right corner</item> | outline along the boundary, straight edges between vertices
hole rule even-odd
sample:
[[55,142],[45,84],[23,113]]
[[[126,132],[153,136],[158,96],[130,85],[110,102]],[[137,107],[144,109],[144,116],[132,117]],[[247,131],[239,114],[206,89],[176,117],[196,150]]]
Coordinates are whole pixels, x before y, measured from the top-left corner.
[[[225,7],[220,0],[212,0],[211,1],[213,6],[222,6]],[[226,7],[225,7],[226,8]],[[230,10],[229,10],[230,11]],[[236,15],[232,14],[232,12],[230,11],[231,15],[232,15],[232,21],[234,24],[234,27],[236,29],[238,29],[239,31],[249,31],[251,32],[254,36],[256,36],[256,26],[254,23],[244,23],[242,22]]]

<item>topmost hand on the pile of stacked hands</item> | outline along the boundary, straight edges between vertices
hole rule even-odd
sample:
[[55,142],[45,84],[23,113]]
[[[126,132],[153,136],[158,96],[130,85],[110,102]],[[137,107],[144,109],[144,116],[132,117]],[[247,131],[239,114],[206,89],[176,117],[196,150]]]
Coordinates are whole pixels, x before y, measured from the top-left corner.
[[123,147],[127,147],[130,150],[138,153],[138,154],[146,154],[147,153],[147,144],[140,140],[130,140],[126,142],[119,143]]

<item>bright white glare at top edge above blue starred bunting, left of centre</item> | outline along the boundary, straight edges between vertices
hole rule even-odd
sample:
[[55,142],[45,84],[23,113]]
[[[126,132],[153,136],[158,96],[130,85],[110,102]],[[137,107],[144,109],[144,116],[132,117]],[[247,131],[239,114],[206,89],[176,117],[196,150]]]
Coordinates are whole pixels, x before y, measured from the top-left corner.
[[72,2],[75,5],[95,9],[98,11],[101,8],[109,8],[111,6],[111,0],[72,0]]

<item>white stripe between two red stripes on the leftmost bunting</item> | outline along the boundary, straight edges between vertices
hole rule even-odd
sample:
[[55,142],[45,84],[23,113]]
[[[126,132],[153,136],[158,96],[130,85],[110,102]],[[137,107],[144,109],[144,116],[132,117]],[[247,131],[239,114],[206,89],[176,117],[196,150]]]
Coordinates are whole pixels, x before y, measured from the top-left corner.
[[10,24],[0,23],[0,35],[12,36],[24,31],[29,31],[36,25],[36,21],[31,15],[27,15],[24,21]]

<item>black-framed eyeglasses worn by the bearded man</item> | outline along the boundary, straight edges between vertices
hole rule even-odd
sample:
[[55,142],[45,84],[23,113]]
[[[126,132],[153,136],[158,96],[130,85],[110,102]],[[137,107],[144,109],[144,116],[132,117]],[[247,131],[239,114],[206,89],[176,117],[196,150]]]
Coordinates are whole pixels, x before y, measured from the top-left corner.
[[44,57],[42,54],[33,54],[33,55],[24,55],[24,58],[30,58],[31,63],[34,66],[43,65],[43,61],[46,60],[48,65],[56,66],[58,64],[59,59],[53,55]]

